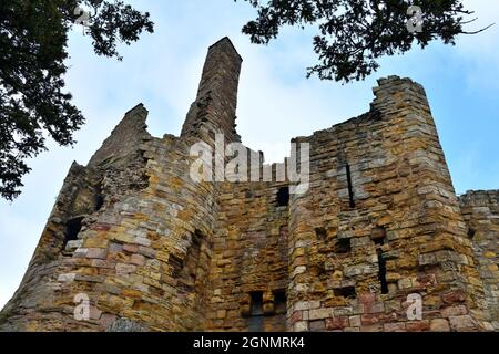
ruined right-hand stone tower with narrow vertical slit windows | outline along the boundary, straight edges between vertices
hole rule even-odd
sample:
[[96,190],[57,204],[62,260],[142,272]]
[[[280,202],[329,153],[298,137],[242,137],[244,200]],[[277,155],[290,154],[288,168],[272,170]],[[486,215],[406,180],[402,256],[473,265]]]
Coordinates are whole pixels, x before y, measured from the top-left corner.
[[374,93],[368,114],[299,139],[312,175],[289,210],[288,325],[479,330],[482,283],[424,88],[393,76]]

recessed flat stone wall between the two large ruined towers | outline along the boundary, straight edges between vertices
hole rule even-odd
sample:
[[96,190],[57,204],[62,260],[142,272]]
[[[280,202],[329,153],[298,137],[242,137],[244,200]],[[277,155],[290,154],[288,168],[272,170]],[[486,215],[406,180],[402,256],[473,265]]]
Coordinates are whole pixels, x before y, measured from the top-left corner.
[[222,185],[207,330],[286,330],[288,206],[278,204],[281,188],[287,185]]

